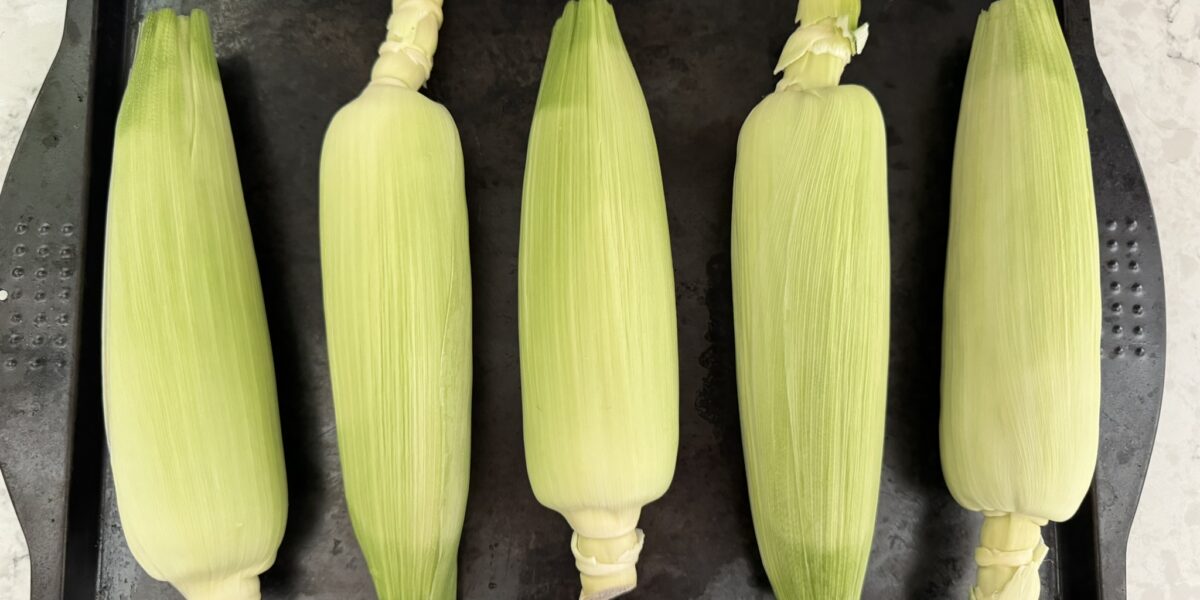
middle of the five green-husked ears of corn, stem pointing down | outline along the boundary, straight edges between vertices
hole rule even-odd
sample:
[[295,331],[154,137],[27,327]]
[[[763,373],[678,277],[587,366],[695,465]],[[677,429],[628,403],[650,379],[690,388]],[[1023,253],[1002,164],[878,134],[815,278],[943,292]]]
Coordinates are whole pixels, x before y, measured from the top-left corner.
[[679,398],[658,150],[606,0],[568,2],[551,38],[526,166],[520,330],[529,480],[575,530],[581,598],[614,598],[637,581],[642,506],[674,472]]

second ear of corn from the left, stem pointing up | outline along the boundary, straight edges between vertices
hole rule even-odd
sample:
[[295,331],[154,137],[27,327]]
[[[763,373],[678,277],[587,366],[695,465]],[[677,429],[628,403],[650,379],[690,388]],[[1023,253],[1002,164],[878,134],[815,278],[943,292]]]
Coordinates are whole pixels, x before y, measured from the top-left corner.
[[325,324],[346,498],[384,600],[452,599],[470,460],[462,149],[419,91],[440,1],[397,0],[320,163]]

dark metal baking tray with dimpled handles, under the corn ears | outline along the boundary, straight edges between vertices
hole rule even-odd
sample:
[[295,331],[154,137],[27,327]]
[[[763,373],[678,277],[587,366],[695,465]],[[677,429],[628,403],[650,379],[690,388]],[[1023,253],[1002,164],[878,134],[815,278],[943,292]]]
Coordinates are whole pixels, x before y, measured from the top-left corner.
[[[1156,224],[1092,44],[1064,0],[1099,208],[1105,302],[1103,444],[1079,515],[1046,530],[1044,598],[1124,598],[1124,552],[1157,425],[1165,308]],[[773,89],[794,0],[616,0],[658,134],[680,350],[674,484],[643,514],[631,598],[761,599],[738,428],[730,196],[743,119]],[[868,599],[964,598],[978,517],[937,449],[950,163],[976,17],[986,0],[866,0],[871,41],[846,80],[888,124],[893,308],[887,449]],[[467,599],[577,590],[556,514],[530,493],[521,443],[516,256],[526,139],[563,0],[450,0],[428,94],[467,161],[475,300]],[[269,308],[290,514],[268,599],[368,599],[342,499],[326,373],[317,164],[334,112],[367,80],[385,0],[70,0],[62,47],[0,197],[0,467],[32,557],[34,599],[161,599],[132,560],[103,452],[98,299],[113,125],[136,24],[160,6],[212,17]],[[397,140],[402,143],[402,140]],[[24,248],[18,251],[17,248]],[[1120,286],[1120,290],[1116,286]],[[1117,328],[1120,326],[1120,332]]]

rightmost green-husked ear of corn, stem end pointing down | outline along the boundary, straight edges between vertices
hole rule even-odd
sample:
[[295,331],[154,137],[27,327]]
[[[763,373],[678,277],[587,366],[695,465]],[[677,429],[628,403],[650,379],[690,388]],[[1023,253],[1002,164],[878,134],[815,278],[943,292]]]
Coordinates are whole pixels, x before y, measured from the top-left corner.
[[985,516],[972,598],[1036,599],[1040,526],[1087,492],[1100,299],[1079,83],[1049,0],[979,18],[952,187],[942,470]]

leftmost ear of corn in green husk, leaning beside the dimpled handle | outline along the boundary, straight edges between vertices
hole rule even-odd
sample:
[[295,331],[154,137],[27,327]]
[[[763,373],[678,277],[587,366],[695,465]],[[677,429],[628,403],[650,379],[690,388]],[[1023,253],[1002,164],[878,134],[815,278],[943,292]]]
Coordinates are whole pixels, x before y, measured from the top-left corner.
[[262,288],[203,12],[143,24],[108,202],[104,416],[125,538],[190,600],[257,599],[287,490]]

